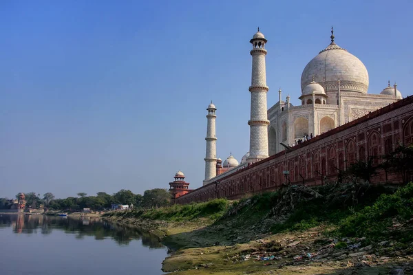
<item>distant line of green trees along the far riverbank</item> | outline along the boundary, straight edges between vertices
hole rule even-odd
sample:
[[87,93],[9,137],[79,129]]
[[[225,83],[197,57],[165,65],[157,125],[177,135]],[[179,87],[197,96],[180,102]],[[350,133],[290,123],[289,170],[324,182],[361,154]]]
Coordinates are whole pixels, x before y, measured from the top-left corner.
[[[169,205],[171,195],[166,189],[155,188],[146,190],[143,195],[134,194],[131,190],[119,190],[113,195],[106,192],[97,192],[96,196],[88,196],[85,192],[78,192],[77,197],[55,199],[54,195],[47,192],[41,198],[35,192],[25,193],[26,208],[47,208],[51,210],[91,210],[110,209],[112,204],[127,204],[134,208],[154,208]],[[16,195],[19,198],[19,194]],[[0,209],[10,209],[12,203],[6,197],[0,198]]]

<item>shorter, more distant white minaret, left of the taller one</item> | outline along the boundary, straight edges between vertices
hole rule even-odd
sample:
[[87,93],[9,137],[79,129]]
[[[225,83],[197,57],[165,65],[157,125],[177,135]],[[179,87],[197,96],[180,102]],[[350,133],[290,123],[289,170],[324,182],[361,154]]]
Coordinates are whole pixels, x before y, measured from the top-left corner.
[[207,108],[208,126],[207,137],[205,137],[205,140],[207,140],[207,155],[205,156],[205,180],[211,179],[212,177],[215,177],[217,175],[217,137],[215,136],[215,119],[217,118],[217,116],[215,115],[216,110],[217,109],[215,108],[215,105],[211,101],[211,104],[209,104]]

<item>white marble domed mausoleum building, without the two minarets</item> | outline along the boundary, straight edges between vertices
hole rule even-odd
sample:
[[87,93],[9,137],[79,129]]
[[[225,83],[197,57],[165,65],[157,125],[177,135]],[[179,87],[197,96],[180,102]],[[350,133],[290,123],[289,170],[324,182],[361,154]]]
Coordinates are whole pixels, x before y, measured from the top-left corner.
[[331,43],[321,50],[301,74],[301,105],[293,106],[287,97],[268,109],[269,155],[283,151],[279,143],[292,146],[304,135],[320,135],[401,99],[396,85],[380,94],[368,94],[368,71],[363,63]]

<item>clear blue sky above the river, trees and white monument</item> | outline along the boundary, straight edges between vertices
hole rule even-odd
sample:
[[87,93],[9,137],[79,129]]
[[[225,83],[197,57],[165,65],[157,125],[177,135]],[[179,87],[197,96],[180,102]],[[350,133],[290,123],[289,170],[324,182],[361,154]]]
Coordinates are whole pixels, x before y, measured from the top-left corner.
[[412,94],[413,1],[1,1],[0,197],[169,188],[204,177],[206,108],[217,151],[248,151],[251,45],[268,39],[268,108],[335,42]]

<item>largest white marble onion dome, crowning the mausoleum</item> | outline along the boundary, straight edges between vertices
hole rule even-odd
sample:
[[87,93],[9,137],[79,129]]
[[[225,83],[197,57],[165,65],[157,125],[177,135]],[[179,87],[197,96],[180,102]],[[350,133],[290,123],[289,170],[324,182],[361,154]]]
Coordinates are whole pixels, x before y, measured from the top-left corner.
[[367,94],[369,82],[366,66],[334,41],[304,68],[301,74],[301,91],[311,83],[313,76],[326,92],[337,91],[337,80],[340,80],[341,91]]

